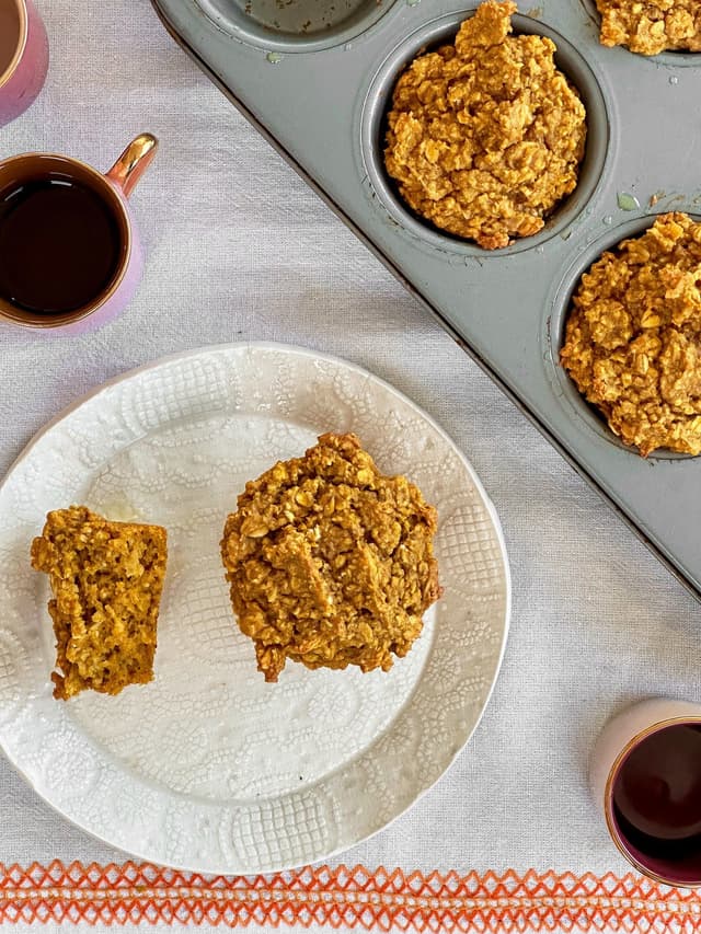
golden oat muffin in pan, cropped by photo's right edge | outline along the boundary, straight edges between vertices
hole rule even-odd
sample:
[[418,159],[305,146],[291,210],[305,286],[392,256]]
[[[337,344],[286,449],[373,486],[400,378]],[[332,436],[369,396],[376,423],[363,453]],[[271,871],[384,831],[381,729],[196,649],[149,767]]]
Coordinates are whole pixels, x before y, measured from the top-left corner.
[[701,453],[701,223],[660,215],[574,293],[562,365],[643,457]]

